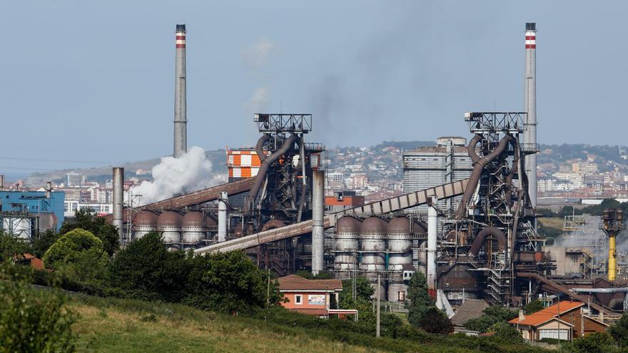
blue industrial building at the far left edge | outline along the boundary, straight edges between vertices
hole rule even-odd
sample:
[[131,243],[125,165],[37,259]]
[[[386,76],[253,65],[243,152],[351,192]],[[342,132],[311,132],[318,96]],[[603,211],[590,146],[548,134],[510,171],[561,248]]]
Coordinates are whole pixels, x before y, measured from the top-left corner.
[[[26,215],[36,220],[39,230],[54,228],[59,231],[64,222],[65,198],[62,191],[0,190],[0,217],[9,220]],[[3,222],[3,227],[6,224],[7,221]]]

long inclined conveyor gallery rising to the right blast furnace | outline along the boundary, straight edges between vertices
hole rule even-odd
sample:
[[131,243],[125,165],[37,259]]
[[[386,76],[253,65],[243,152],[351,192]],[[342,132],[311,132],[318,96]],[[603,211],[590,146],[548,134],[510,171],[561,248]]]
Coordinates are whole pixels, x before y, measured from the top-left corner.
[[[356,208],[350,208],[342,210],[336,213],[330,213],[326,215],[323,221],[323,227],[325,229],[333,227],[338,218],[344,215],[379,215],[383,213],[390,213],[398,210],[404,210],[406,208],[412,208],[418,205],[427,203],[427,198],[432,195],[442,200],[446,198],[453,198],[458,195],[462,195],[465,192],[465,187],[469,179],[458,180],[453,183],[447,183],[438,185],[435,188],[429,188],[425,190],[419,190],[415,193],[408,193],[395,198],[388,198],[385,200],[376,201],[374,203],[368,203]],[[204,254],[206,252],[229,252],[233,250],[242,250],[248,247],[255,247],[266,242],[274,242],[276,240],[282,240],[288,237],[296,237],[298,235],[307,234],[312,231],[312,221],[306,220],[304,222],[298,222],[293,225],[286,225],[285,227],[279,227],[265,232],[258,232],[252,235],[246,235],[245,237],[239,237],[238,239],[228,240],[226,242],[219,242],[206,247],[201,247],[194,250],[195,254]]]

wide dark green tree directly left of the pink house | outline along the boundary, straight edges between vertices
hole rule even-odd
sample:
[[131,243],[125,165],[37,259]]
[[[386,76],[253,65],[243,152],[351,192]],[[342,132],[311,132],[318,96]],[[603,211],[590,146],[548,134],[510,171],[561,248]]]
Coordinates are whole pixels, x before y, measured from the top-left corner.
[[[278,305],[282,295],[278,283],[268,279],[241,251],[205,254],[189,259],[183,303],[216,312],[250,312]],[[270,298],[268,298],[270,285]]]

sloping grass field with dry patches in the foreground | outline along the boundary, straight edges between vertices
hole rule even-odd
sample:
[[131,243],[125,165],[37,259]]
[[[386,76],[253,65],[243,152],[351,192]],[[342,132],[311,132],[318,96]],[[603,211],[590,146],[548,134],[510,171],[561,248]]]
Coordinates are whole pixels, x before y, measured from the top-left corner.
[[393,339],[328,329],[304,329],[184,305],[76,295],[69,308],[78,352],[546,352],[477,337],[425,334]]

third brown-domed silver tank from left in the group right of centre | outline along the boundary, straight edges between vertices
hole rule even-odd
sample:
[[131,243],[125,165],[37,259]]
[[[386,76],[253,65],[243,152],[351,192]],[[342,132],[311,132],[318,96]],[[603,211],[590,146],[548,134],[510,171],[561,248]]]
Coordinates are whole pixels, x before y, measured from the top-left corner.
[[403,270],[412,266],[412,240],[410,220],[396,217],[388,223],[388,301],[405,300],[407,286],[403,283]]

